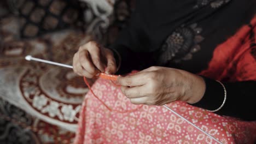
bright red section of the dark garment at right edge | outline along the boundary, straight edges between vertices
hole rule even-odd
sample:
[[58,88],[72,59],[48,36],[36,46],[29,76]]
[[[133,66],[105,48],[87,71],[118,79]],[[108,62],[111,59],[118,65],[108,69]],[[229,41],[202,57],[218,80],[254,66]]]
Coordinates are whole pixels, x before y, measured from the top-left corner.
[[200,75],[214,80],[235,82],[256,80],[256,17],[250,25],[216,47],[211,62]]

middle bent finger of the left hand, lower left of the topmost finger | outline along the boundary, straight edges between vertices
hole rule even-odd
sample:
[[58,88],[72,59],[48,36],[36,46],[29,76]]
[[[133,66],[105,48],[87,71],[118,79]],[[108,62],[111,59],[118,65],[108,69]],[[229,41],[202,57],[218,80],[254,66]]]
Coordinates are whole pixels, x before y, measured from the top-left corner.
[[84,50],[79,52],[79,62],[82,65],[82,67],[91,75],[96,75],[100,73],[100,71],[98,71],[95,68],[94,64],[91,62],[88,51]]

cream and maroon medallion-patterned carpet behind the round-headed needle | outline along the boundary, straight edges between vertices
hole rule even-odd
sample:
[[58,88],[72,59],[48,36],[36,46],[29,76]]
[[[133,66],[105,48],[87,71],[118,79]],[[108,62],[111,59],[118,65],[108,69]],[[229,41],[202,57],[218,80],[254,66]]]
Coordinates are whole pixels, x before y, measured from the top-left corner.
[[15,17],[1,20],[0,32],[4,38],[0,54],[1,114],[15,117],[14,121],[21,121],[25,127],[41,128],[41,131],[32,133],[16,123],[7,123],[8,119],[1,117],[1,125],[5,127],[1,127],[0,143],[16,139],[21,143],[38,143],[42,136],[48,137],[43,143],[56,142],[53,139],[61,136],[70,143],[72,139],[69,137],[74,136],[71,131],[75,131],[77,126],[80,103],[88,88],[72,69],[28,62],[24,57],[32,55],[72,64],[78,45],[88,37],[81,32],[66,30],[33,40],[8,40],[14,35],[9,30],[15,28],[15,23]]

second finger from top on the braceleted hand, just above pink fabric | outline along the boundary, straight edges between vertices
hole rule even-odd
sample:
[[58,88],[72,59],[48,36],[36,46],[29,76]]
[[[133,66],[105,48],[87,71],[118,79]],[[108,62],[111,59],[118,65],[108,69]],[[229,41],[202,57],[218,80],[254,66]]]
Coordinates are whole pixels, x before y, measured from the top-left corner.
[[124,93],[124,95],[129,98],[140,98],[146,96],[147,89],[144,89],[143,86],[137,86],[137,87],[126,87],[122,86],[121,91]]

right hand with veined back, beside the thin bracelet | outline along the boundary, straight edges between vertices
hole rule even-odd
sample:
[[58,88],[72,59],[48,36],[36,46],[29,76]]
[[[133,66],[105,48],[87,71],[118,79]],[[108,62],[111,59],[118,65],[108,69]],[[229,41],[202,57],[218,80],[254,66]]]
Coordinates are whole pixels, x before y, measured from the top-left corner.
[[164,105],[176,100],[194,104],[205,93],[202,77],[184,70],[150,67],[119,77],[122,92],[133,104]]

